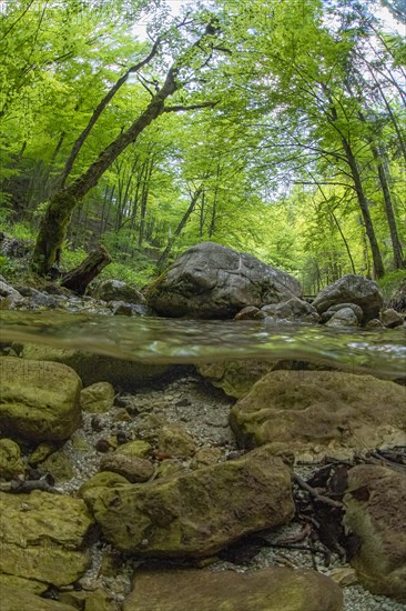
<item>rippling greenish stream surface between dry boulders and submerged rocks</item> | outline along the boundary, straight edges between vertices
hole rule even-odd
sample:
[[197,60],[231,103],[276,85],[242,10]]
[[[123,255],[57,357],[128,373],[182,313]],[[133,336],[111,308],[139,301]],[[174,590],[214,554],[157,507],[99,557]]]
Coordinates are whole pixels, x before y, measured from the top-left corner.
[[329,329],[264,321],[195,321],[61,312],[0,312],[3,344],[39,343],[151,363],[222,359],[308,361],[406,379],[405,329]]

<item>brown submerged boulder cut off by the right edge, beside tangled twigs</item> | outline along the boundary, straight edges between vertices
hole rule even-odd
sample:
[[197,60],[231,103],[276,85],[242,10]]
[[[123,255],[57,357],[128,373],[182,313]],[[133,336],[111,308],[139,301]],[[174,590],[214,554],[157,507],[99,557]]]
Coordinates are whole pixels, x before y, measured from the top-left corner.
[[375,594],[406,602],[406,473],[379,464],[348,471],[344,523],[361,545],[352,559]]

